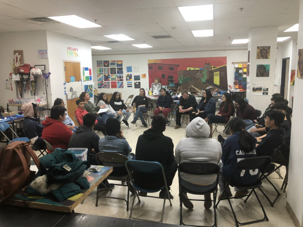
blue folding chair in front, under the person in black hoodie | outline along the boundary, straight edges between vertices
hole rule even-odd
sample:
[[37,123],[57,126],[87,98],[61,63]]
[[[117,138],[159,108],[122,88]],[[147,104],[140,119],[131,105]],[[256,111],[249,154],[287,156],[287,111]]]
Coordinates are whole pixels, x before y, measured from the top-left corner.
[[[146,162],[146,161],[138,161],[138,160],[127,160],[125,162],[125,167],[126,167],[126,170],[128,172],[129,179],[131,180],[132,186],[135,189],[135,195],[134,195],[134,198],[133,198],[133,201],[132,201],[132,206],[131,206],[131,209],[130,209],[130,214],[129,214],[129,218],[128,219],[132,218],[132,219],[141,220],[141,221],[152,221],[152,222],[161,222],[162,223],[162,221],[163,221],[163,215],[164,215],[164,207],[165,207],[166,195],[169,195],[163,166],[160,163],[158,163],[158,162]],[[137,181],[136,178],[134,178],[134,175],[132,174],[134,172],[140,172],[140,173],[162,173],[162,176],[163,176],[163,179],[164,179],[164,184],[161,185],[161,186],[159,186],[156,189],[146,188],[146,187],[140,185],[140,182]],[[138,196],[138,191],[145,192],[145,193],[153,193],[153,192],[159,192],[164,187],[166,189],[166,194],[164,196],[164,202],[163,202],[163,208],[162,208],[162,214],[161,214],[160,221],[153,221],[153,220],[148,220],[148,219],[134,218],[132,216],[132,211],[133,211],[133,206],[134,206],[134,202],[135,202],[135,197]],[[160,197],[148,196],[148,195],[146,195],[144,197],[151,197],[151,198],[161,199]],[[170,206],[172,206],[171,199],[170,199],[169,196],[168,196],[168,198],[169,198],[168,200],[169,200]],[[139,202],[141,202],[141,200],[139,199],[139,197],[138,197],[138,200],[139,200]]]

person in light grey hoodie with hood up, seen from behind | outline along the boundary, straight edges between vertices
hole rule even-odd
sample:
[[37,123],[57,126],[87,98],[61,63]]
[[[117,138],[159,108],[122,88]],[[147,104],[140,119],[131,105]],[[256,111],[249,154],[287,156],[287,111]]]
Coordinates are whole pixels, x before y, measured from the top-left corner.
[[[201,117],[192,120],[185,129],[186,138],[182,138],[175,149],[176,162],[207,161],[218,164],[221,159],[222,150],[217,140],[208,138],[210,128]],[[181,173],[181,184],[194,192],[206,192],[216,186],[216,174],[192,175]],[[194,205],[185,192],[183,192],[183,204],[186,208],[192,209]],[[204,196],[204,207],[209,209],[212,205],[211,194]]]

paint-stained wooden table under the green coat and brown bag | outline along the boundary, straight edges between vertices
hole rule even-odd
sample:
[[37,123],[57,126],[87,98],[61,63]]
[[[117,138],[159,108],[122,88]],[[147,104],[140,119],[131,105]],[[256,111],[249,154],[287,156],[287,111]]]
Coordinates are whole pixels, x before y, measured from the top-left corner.
[[110,173],[112,166],[102,166],[100,172],[92,172],[88,175],[89,189],[82,189],[81,192],[62,202],[58,202],[52,196],[39,196],[22,192],[21,190],[15,196],[5,201],[5,204],[14,206],[23,206],[37,209],[72,212],[76,206],[82,202]]

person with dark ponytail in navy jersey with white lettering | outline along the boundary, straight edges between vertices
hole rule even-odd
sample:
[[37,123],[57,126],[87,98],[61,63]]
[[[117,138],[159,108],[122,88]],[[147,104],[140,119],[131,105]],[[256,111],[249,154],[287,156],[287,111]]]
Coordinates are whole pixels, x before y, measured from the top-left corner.
[[[228,122],[231,136],[228,137],[222,146],[221,163],[221,175],[226,179],[230,179],[234,169],[238,163],[238,160],[244,158],[256,157],[256,139],[245,130],[246,124],[240,117],[234,117]],[[219,176],[220,196],[224,190],[224,180],[221,175]],[[252,169],[251,171],[243,170],[238,171],[232,181],[241,185],[252,184],[258,180],[258,169]],[[242,198],[248,191],[235,188],[235,197]],[[229,187],[225,190],[226,194],[222,198],[231,197],[231,191]]]

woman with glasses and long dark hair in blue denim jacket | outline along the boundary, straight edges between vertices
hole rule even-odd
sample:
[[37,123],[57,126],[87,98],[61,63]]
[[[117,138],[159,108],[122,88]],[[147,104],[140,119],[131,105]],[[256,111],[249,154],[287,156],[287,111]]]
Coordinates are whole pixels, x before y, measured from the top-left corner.
[[193,112],[194,117],[206,118],[209,114],[215,115],[216,113],[216,101],[212,97],[211,91],[206,89],[203,91],[203,97],[201,98],[197,112]]

